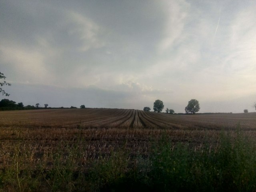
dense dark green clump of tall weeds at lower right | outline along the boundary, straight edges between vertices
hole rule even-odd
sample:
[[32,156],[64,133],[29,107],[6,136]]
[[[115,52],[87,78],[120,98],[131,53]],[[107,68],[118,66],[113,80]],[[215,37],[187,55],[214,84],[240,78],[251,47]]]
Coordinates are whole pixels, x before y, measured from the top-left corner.
[[256,145],[238,130],[218,143],[191,148],[166,141],[153,155],[152,188],[161,191],[254,191]]

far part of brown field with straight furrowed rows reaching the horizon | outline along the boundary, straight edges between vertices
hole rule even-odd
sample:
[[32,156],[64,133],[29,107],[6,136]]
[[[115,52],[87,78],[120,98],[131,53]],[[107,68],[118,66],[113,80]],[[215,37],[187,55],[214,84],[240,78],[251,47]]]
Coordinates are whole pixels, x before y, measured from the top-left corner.
[[52,109],[0,112],[0,126],[58,128],[256,129],[256,113],[174,115],[134,109]]

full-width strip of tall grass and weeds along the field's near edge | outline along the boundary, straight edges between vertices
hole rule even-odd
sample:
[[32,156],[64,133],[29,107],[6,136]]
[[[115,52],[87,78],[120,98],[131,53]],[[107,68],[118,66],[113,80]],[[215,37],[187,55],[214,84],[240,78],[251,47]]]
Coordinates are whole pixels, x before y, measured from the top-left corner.
[[54,151],[42,154],[24,150],[20,142],[6,155],[11,163],[0,167],[0,191],[256,190],[256,142],[239,126],[199,144],[174,142],[164,134],[137,154],[124,143],[90,155],[83,138],[60,140]]

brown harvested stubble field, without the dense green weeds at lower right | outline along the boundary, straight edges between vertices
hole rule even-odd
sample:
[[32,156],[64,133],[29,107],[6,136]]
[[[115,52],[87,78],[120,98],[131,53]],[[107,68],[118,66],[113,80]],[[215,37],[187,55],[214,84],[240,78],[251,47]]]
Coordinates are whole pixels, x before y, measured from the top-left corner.
[[[172,115],[104,108],[4,111],[0,112],[0,191],[108,191],[109,184],[131,171],[148,174],[146,178],[156,174],[152,162],[161,154],[163,143],[170,153],[182,144],[208,157],[211,151],[218,152],[221,135],[236,138],[243,131],[246,138],[255,139],[255,130],[256,113]],[[118,174],[113,175],[113,170]]]

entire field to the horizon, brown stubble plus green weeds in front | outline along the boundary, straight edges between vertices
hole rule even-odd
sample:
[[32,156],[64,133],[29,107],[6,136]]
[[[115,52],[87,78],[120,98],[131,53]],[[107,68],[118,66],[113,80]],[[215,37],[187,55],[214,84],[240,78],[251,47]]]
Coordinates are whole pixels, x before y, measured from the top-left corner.
[[255,191],[255,130],[256,113],[0,112],[0,191]]

